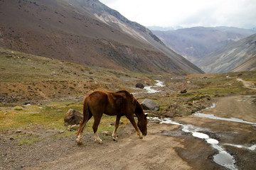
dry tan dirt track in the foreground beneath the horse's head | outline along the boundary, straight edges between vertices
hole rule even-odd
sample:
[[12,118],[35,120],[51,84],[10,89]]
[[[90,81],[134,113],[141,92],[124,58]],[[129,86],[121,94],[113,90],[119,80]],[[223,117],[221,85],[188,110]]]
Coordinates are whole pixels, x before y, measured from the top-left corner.
[[183,147],[174,137],[153,135],[170,125],[149,124],[150,134],[140,140],[128,125],[132,134],[120,137],[118,142],[104,142],[102,145],[80,147],[80,152],[69,157],[55,159],[31,169],[191,169],[174,150]]

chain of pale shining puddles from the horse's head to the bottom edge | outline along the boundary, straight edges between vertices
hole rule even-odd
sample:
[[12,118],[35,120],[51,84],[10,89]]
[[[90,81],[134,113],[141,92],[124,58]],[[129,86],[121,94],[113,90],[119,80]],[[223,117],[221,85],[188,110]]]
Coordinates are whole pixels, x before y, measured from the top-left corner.
[[[154,122],[157,123],[166,123],[166,124],[172,124],[172,125],[180,125],[182,127],[183,132],[191,133],[193,137],[198,137],[200,139],[206,140],[208,144],[210,144],[214,149],[218,150],[218,154],[215,154],[213,156],[213,161],[217,164],[220,164],[221,166],[225,166],[228,169],[238,169],[235,166],[235,159],[234,157],[229,154],[228,152],[225,151],[222,147],[220,147],[218,144],[218,140],[215,140],[213,138],[210,138],[207,134],[203,133],[202,131],[208,131],[203,128],[196,127],[194,125],[183,125],[181,123],[174,122],[170,118],[164,118],[164,119],[159,119],[156,117],[149,117],[149,120],[153,120]],[[162,134],[157,134],[157,135],[166,135],[169,134],[167,132],[164,132]],[[171,133],[169,134],[171,135]]]

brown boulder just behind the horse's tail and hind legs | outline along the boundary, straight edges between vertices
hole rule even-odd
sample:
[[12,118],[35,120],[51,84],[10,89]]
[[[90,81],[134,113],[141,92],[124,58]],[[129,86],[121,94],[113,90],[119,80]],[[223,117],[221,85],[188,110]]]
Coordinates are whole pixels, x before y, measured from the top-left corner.
[[82,118],[82,113],[70,108],[70,110],[65,114],[64,122],[65,125],[78,125]]

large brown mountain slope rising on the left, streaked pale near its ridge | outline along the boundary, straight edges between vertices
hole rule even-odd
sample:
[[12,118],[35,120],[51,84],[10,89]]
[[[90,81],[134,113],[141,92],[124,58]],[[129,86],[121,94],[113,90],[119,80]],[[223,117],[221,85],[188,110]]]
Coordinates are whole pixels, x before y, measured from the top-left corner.
[[142,73],[203,73],[151,31],[97,0],[0,0],[0,46]]

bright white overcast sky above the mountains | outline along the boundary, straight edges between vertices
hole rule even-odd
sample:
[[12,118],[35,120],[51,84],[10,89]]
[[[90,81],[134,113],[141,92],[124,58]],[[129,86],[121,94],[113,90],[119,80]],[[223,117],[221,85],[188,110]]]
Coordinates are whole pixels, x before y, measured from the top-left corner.
[[256,28],[256,0],[100,0],[143,26]]

